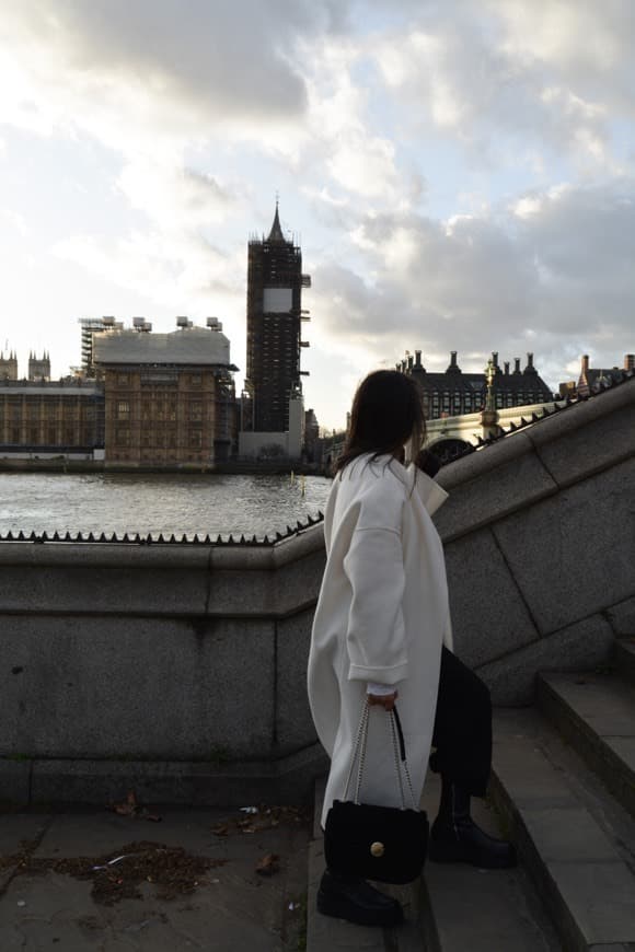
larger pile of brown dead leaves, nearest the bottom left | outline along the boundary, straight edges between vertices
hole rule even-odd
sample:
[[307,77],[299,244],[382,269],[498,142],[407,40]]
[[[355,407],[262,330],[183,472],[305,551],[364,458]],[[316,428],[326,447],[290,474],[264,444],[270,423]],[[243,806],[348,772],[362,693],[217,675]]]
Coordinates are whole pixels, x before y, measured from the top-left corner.
[[124,898],[140,898],[139,886],[145,882],[154,884],[162,899],[193,893],[205,883],[208,870],[224,862],[193,856],[180,846],[139,840],[97,857],[46,859],[21,852],[4,857],[2,866],[16,866],[19,874],[50,870],[79,880],[92,880],[91,895],[95,903],[111,906]]

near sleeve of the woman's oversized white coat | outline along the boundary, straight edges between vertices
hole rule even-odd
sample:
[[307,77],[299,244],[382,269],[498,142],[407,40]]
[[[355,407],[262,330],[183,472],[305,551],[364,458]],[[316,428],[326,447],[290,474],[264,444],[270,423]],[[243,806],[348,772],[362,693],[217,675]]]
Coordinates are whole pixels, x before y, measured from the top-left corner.
[[407,676],[401,504],[392,502],[381,520],[362,513],[344,559],[351,589],[346,632],[350,681],[392,685]]

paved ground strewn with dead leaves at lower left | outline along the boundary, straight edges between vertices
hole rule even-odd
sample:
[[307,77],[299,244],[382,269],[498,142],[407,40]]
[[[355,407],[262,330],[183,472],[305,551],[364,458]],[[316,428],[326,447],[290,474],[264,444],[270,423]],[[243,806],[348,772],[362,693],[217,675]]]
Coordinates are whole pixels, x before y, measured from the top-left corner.
[[157,813],[0,814],[0,950],[304,949],[305,817]]

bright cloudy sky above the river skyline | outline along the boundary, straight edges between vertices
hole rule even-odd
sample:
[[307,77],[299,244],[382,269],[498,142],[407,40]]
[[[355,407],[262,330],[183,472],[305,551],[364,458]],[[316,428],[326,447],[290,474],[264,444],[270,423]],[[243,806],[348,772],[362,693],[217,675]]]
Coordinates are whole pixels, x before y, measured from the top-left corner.
[[324,427],[406,350],[622,365],[634,48],[632,0],[5,0],[0,349],[57,378],[80,317],[217,316],[240,392],[279,196]]

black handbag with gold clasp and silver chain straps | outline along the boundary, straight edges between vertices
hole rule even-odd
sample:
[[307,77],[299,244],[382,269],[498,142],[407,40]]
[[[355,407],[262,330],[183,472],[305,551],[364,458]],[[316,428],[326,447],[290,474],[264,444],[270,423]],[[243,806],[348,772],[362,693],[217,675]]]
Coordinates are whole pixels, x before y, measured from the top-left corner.
[[[396,707],[389,711],[394,751],[396,780],[402,806],[378,806],[359,802],[370,706],[366,701],[353,750],[350,769],[344,790],[344,800],[334,800],[326,815],[324,856],[326,866],[337,872],[357,875],[382,883],[409,883],[420,875],[428,849],[428,817],[417,809],[406,761],[404,735]],[[397,748],[399,736],[399,748]],[[348,790],[357,761],[355,799],[348,800]],[[405,774],[412,799],[406,808]]]

